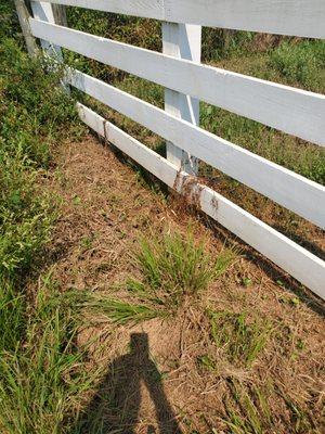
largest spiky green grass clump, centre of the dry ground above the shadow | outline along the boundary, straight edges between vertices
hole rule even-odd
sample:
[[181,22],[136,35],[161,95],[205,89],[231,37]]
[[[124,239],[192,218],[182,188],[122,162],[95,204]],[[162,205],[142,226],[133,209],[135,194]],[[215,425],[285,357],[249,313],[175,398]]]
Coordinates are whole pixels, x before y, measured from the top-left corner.
[[232,264],[235,252],[224,250],[217,259],[205,248],[205,241],[195,242],[191,230],[186,235],[165,233],[162,238],[142,239],[135,254],[142,280],[130,280],[128,290],[142,299],[167,309],[177,309],[184,296],[205,291]]

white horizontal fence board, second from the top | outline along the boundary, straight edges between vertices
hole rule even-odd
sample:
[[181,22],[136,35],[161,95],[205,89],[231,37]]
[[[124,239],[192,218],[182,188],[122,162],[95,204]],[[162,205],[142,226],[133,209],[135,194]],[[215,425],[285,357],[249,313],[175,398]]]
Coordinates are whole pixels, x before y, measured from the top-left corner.
[[168,89],[325,145],[325,95],[30,20],[32,35]]

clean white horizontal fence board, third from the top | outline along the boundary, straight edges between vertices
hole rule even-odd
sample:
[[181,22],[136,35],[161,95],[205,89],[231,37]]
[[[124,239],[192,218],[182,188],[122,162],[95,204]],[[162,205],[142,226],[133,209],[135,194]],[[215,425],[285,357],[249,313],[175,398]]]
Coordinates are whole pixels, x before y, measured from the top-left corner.
[[325,188],[78,71],[68,82],[239,182],[325,228]]

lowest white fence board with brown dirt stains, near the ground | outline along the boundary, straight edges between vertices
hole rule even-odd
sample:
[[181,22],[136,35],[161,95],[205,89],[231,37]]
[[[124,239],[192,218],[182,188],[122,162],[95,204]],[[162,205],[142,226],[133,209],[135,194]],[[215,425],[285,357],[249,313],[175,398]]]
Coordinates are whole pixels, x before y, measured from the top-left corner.
[[[188,197],[206,214],[325,298],[325,263],[221,194],[193,181],[170,162],[78,103],[81,119],[170,188]],[[187,181],[187,182],[186,182]]]

